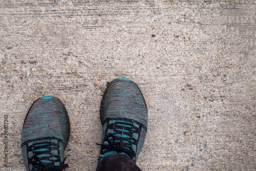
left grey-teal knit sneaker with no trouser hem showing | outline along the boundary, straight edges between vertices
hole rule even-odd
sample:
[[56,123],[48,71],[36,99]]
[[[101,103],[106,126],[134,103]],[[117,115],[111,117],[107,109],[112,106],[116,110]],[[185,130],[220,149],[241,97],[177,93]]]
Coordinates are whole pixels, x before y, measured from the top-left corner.
[[22,131],[22,154],[26,169],[64,170],[64,150],[70,135],[69,116],[54,96],[40,97],[31,105]]

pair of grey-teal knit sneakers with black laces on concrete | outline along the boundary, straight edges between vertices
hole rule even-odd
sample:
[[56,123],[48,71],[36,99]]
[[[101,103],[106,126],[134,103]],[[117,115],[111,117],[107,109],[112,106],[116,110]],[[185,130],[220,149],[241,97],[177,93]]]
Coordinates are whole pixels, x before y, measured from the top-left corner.
[[[135,163],[147,131],[147,107],[137,84],[113,80],[102,97],[103,135],[98,166],[109,154],[128,155]],[[54,96],[38,98],[30,107],[22,132],[22,154],[27,170],[65,170],[64,150],[70,121],[63,103]]]

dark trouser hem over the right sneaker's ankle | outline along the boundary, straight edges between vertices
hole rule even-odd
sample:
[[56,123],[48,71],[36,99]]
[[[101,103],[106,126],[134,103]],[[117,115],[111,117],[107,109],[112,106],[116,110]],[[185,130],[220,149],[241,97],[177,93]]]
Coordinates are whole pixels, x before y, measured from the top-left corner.
[[142,171],[134,161],[124,154],[110,154],[101,159],[96,171]]

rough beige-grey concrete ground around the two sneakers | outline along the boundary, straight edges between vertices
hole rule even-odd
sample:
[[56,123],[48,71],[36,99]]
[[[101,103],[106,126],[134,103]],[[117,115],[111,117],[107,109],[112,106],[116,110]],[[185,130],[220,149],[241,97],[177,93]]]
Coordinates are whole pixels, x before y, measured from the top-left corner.
[[138,83],[148,105],[143,171],[255,170],[255,9],[250,0],[2,0],[0,170],[25,169],[23,120],[45,95],[70,116],[67,170],[95,170],[100,101],[118,77]]

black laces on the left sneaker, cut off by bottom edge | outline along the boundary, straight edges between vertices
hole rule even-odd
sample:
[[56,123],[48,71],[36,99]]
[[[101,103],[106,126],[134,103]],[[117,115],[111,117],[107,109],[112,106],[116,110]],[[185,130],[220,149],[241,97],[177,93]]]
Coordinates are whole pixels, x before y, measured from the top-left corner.
[[[39,151],[40,149],[46,149],[46,150]],[[33,156],[29,158],[29,163],[33,165],[32,171],[34,170],[56,171],[56,170],[62,170],[67,168],[69,165],[64,164],[66,158],[63,160],[63,162],[60,162],[59,156],[52,154],[52,151],[55,149],[58,150],[58,144],[54,142],[48,142],[48,141],[37,142],[37,143],[34,143],[33,145],[30,145],[28,147],[28,151],[33,152]],[[46,157],[38,157],[39,155],[46,155]],[[47,162],[43,163],[42,160],[45,160]],[[55,162],[60,162],[60,165],[55,166],[54,165]]]

